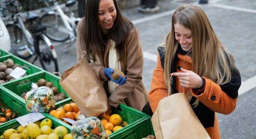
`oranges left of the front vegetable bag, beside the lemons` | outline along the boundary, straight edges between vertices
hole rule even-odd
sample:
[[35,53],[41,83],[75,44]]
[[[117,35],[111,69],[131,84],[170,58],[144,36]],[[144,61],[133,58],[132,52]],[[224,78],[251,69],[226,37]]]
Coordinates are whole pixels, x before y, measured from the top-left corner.
[[[77,116],[81,115],[79,108],[76,103],[65,104],[64,107],[59,107],[56,110],[52,110],[50,115],[63,120],[62,118],[69,118],[72,120],[78,120]],[[66,120],[63,120],[65,123],[70,124]],[[70,124],[71,125],[71,124]]]

